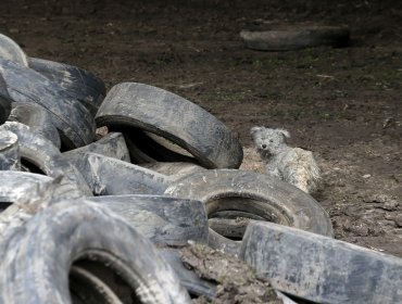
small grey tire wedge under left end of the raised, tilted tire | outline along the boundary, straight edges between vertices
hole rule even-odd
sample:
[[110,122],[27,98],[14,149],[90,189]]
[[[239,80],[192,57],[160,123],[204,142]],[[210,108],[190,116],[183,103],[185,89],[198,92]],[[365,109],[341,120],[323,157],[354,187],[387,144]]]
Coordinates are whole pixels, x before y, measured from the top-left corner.
[[[130,162],[127,145],[121,132],[109,132],[92,143],[64,152],[63,156],[72,161],[76,157],[83,157],[83,155],[88,152],[114,157],[128,163]],[[76,161],[72,162],[74,163]]]

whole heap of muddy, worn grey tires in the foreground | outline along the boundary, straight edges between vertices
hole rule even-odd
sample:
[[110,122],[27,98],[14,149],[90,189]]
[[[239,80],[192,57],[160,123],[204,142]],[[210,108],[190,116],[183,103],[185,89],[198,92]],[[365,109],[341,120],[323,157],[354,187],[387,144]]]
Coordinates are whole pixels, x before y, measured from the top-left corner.
[[288,295],[402,300],[401,259],[331,239],[312,197],[239,170],[238,139],[174,93],[136,83],[106,93],[91,73],[0,36],[0,303],[213,300],[180,263],[189,241]]

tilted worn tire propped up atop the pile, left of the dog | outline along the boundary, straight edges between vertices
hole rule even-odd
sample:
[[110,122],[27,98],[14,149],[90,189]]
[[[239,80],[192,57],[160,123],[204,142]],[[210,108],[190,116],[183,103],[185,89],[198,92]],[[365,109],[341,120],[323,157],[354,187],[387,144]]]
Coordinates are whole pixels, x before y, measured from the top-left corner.
[[[150,145],[156,147],[151,155],[156,161],[190,159],[172,151],[166,142],[183,148],[206,168],[238,168],[242,161],[240,142],[222,122],[197,104],[156,87],[137,83],[114,86],[99,107],[96,122],[99,127],[122,130],[146,152],[151,152]],[[164,143],[143,131],[165,139]],[[140,135],[141,140],[137,140]],[[168,160],[163,159],[166,150],[171,150]]]

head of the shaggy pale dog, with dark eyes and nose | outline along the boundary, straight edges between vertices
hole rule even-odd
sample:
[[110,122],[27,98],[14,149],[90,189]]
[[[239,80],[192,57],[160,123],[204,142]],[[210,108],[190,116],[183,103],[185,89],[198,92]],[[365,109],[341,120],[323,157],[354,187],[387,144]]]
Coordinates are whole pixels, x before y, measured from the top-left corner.
[[285,138],[289,138],[289,132],[284,129],[269,129],[265,127],[253,127],[250,130],[256,149],[260,152],[275,155],[280,152],[286,144]]

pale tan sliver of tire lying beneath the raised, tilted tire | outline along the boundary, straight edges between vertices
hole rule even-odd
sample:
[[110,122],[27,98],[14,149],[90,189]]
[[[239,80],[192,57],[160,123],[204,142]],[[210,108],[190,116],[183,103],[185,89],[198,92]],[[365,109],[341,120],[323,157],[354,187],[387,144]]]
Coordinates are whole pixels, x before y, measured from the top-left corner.
[[168,177],[173,179],[183,178],[196,172],[206,170],[204,167],[201,167],[201,166],[198,166],[191,163],[153,162],[153,163],[141,164],[141,167],[158,172],[163,175],[167,175]]

